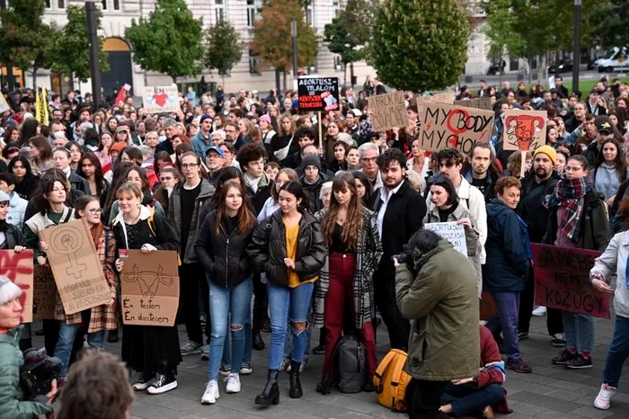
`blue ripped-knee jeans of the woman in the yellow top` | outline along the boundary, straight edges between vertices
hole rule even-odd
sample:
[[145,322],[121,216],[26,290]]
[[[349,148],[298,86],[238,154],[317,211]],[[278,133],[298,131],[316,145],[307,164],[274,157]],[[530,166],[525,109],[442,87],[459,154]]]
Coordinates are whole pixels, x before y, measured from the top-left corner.
[[[279,363],[284,356],[284,341],[288,329],[288,321],[292,324],[306,323],[308,328],[308,308],[313,294],[314,283],[306,283],[296,288],[288,288],[269,283],[270,310],[270,351],[269,370],[279,370]],[[306,329],[293,333],[293,351],[291,360],[301,362],[306,352]]]

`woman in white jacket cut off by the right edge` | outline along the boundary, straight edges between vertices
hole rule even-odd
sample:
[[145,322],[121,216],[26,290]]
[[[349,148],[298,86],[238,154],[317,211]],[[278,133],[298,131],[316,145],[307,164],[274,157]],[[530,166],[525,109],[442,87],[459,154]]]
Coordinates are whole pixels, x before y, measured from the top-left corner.
[[[629,221],[629,198],[620,203],[618,215]],[[614,337],[607,351],[607,361],[603,371],[603,384],[600,386],[594,406],[607,410],[611,397],[616,394],[623,364],[629,357],[629,231],[616,234],[607,245],[605,252],[598,256],[589,272],[592,286],[603,293],[614,294],[616,326]],[[609,286],[611,277],[616,274],[616,290]]]

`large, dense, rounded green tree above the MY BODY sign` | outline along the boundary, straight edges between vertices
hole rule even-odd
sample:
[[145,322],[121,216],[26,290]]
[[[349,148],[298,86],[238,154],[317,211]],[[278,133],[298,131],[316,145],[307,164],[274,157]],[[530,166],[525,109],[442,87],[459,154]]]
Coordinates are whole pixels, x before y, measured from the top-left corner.
[[457,0],[383,0],[371,32],[368,62],[391,87],[444,89],[465,69],[470,29]]

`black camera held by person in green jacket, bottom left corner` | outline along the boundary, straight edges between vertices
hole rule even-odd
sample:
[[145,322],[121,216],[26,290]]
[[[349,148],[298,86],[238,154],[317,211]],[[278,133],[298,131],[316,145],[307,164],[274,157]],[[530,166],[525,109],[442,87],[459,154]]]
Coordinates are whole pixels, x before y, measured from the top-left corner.
[[46,348],[24,351],[24,364],[20,369],[20,383],[30,399],[49,393],[52,380],[61,375],[61,360],[48,356]]

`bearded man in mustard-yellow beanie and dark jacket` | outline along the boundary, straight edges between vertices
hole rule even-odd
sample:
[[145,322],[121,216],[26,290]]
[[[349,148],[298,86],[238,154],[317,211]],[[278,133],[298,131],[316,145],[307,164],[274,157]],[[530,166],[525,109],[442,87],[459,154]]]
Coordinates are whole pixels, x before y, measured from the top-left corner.
[[[533,170],[522,179],[522,195],[519,201],[518,212],[527,223],[528,238],[531,243],[542,243],[548,224],[548,209],[542,205],[546,195],[554,191],[554,186],[559,182],[560,176],[554,171],[557,161],[557,152],[553,147],[542,146],[533,154]],[[535,295],[535,267],[528,270],[526,288],[520,293],[518,314],[518,337],[525,339],[531,322],[533,312],[533,297]],[[565,346],[563,336],[563,320],[559,310],[547,308],[548,316],[546,326],[548,334],[552,338],[552,344],[556,347]]]

